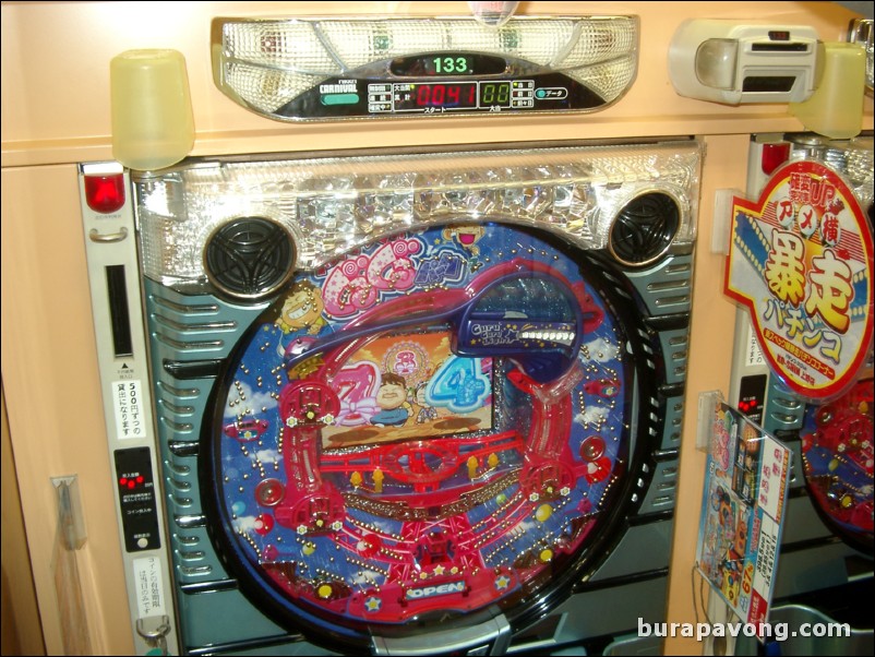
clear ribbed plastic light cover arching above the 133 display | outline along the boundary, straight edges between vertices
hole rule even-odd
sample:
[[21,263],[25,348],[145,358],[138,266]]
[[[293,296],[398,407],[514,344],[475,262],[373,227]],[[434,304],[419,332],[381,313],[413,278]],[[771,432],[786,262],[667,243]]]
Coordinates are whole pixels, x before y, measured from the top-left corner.
[[422,52],[531,62],[570,74],[608,103],[632,83],[637,63],[635,16],[514,17],[499,28],[470,19],[221,21],[219,87],[275,118],[321,82]]

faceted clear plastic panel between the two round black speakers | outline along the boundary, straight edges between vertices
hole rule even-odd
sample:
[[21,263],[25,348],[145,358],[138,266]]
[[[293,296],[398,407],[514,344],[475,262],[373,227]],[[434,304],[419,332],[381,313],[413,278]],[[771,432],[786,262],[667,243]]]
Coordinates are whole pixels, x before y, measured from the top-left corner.
[[695,142],[201,163],[137,183],[144,270],[166,284],[202,283],[209,234],[245,216],[286,227],[303,270],[381,236],[452,220],[537,226],[600,249],[623,205],[654,189],[679,201],[675,240],[688,242],[699,163]]

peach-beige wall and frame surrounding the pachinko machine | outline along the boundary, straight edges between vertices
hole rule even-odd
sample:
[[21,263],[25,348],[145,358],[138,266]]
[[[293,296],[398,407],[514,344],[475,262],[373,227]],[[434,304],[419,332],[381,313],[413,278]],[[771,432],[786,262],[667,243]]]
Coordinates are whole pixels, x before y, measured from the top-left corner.
[[[84,237],[74,163],[109,159],[109,60],[130,48],[183,52],[191,80],[194,154],[367,146],[704,135],[690,375],[669,620],[695,620],[691,570],[704,457],[695,451],[700,391],[729,382],[734,306],[721,295],[722,258],[709,252],[715,189],[744,187],[748,134],[803,127],[787,106],[724,107],[678,97],[669,39],[686,16],[810,24],[840,40],[851,14],[831,2],[524,2],[540,14],[642,16],[637,81],[615,106],[592,115],[399,119],[285,124],[235,106],[213,85],[209,21],[218,15],[350,11],[340,2],[3,2],[2,4],[2,380],[36,597],[48,654],[62,653],[51,568],[56,511],[51,477],[80,477],[87,542],[77,554],[92,646],[131,653],[115,525],[112,477],[99,399]],[[465,2],[362,2],[357,12],[464,14]],[[872,100],[866,99],[866,124]],[[4,457],[5,463],[5,457]],[[4,549],[5,559],[5,549]],[[674,640],[673,654],[699,644]]]

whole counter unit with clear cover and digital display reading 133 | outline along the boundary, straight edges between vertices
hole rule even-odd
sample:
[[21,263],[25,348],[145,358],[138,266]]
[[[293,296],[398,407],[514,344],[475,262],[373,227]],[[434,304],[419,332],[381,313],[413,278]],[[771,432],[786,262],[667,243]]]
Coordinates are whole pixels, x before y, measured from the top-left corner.
[[637,41],[634,16],[217,19],[213,72],[281,121],[594,111],[632,85]]

